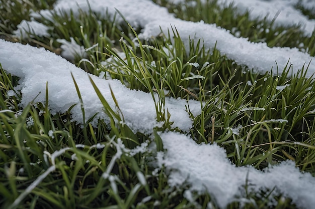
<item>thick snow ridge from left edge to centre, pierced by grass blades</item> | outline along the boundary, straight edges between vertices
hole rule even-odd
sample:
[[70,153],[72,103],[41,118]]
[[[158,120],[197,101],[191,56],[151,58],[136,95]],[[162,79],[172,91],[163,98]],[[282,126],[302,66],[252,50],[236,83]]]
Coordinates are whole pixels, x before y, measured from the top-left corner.
[[[46,82],[48,82],[51,112],[53,114],[64,113],[71,105],[79,104],[71,109],[71,114],[74,121],[83,123],[80,100],[71,78],[72,73],[83,98],[85,120],[97,113],[97,117],[93,120],[94,125],[97,123],[97,118],[104,119],[109,123],[108,116],[103,112],[103,105],[91,85],[90,76],[111,108],[115,110],[115,103],[109,89],[111,86],[125,122],[134,132],[151,133],[153,127],[161,126],[156,121],[154,102],[148,93],[130,90],[118,80],[104,80],[88,74],[60,56],[44,49],[6,42],[1,39],[0,46],[0,63],[3,68],[21,78],[19,86],[16,88],[23,94],[22,106],[27,105],[35,98],[34,102],[44,103]],[[36,97],[39,92],[41,93]],[[186,100],[166,98],[166,109],[171,113],[171,121],[174,121],[172,127],[179,127],[188,132],[192,127],[192,120],[186,112],[186,105]],[[200,102],[189,101],[189,106],[194,115],[201,111]]]

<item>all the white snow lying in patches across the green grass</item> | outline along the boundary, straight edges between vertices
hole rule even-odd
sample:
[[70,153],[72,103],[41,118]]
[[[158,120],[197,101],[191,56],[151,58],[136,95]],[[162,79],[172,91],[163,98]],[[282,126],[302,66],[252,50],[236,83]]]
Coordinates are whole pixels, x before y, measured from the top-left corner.
[[[181,0],[173,2],[178,4]],[[314,20],[308,20],[294,9],[293,5],[297,3],[297,0],[222,0],[218,2],[222,7],[224,7],[224,2],[226,4],[234,2],[240,13],[250,10],[252,18],[267,16],[268,19],[272,19],[280,11],[276,24],[301,23],[306,35],[310,35],[314,29]],[[301,4],[308,8],[314,8],[314,3],[311,1],[301,1]],[[206,48],[213,49],[216,44],[216,48],[222,54],[235,60],[237,64],[246,65],[257,71],[270,71],[272,67],[276,68],[275,61],[277,61],[281,73],[290,59],[289,63],[293,64],[293,70],[297,72],[304,63],[308,64],[312,59],[311,56],[299,52],[297,49],[269,48],[266,43],[254,44],[246,38],[234,37],[227,30],[215,25],[176,19],[174,15],[168,13],[166,8],[155,5],[149,0],[90,0],[89,5],[92,11],[100,14],[108,11],[109,14],[113,15],[116,13],[116,8],[133,27],[143,28],[139,36],[144,39],[159,35],[161,33],[160,27],[166,32],[175,26],[186,44],[188,44],[189,37],[194,40],[202,38]],[[57,13],[60,11],[69,13],[70,10],[73,10],[75,15],[78,12],[78,6],[83,11],[89,10],[86,0],[57,1],[54,10]],[[41,11],[40,15],[50,18],[50,11]],[[33,16],[39,16],[39,14],[34,13]],[[122,21],[122,19],[118,17],[117,21]],[[49,36],[47,29],[36,21],[23,21],[18,26],[16,34],[25,35],[25,31],[31,30],[39,36]],[[71,44],[62,40],[59,41],[66,46]],[[22,106],[27,105],[34,98],[36,98],[36,102],[44,102],[47,82],[52,113],[65,112],[71,105],[80,103],[71,78],[72,73],[82,94],[85,120],[98,113],[96,118],[102,118],[105,122],[109,122],[109,118],[103,113],[102,104],[89,81],[90,76],[110,106],[115,109],[115,103],[109,90],[109,86],[111,86],[126,123],[133,131],[151,133],[153,127],[161,126],[156,121],[153,99],[147,93],[130,90],[117,80],[104,80],[89,75],[65,59],[46,52],[44,49],[13,44],[3,40],[0,40],[0,49],[0,63],[3,68],[21,78],[17,89],[21,90],[23,94]],[[77,53],[84,53],[80,46],[74,46],[73,49],[80,51]],[[71,58],[71,52],[66,54]],[[314,63],[313,61],[309,65],[308,77],[315,72]],[[277,89],[281,91],[285,87],[279,86]],[[36,97],[39,92],[41,93]],[[12,92],[10,93],[12,94]],[[187,102],[180,98],[167,98],[166,101],[166,107],[172,115],[171,121],[174,121],[173,127],[179,127],[185,132],[189,132],[192,127],[192,120],[186,112],[186,105],[188,104],[194,115],[200,113],[200,103],[196,101]],[[71,110],[71,114],[73,120],[83,123],[80,105],[76,105]],[[274,121],[287,122],[282,119],[274,119]],[[93,124],[95,125],[96,122],[95,119]],[[233,134],[238,134],[241,128],[238,126],[231,128],[231,130]],[[301,173],[293,161],[282,162],[264,171],[258,171],[251,166],[235,167],[226,158],[225,150],[215,144],[196,144],[189,136],[175,132],[164,132],[160,135],[166,151],[157,154],[157,164],[166,167],[170,185],[178,187],[183,184],[189,185],[189,189],[185,191],[187,198],[191,196],[192,191],[198,193],[207,191],[213,195],[218,205],[224,208],[244,191],[243,186],[248,179],[250,190],[272,190],[276,187],[274,194],[281,193],[292,198],[293,202],[300,208],[312,208],[315,205],[315,198],[313,198],[315,178],[309,173]]]

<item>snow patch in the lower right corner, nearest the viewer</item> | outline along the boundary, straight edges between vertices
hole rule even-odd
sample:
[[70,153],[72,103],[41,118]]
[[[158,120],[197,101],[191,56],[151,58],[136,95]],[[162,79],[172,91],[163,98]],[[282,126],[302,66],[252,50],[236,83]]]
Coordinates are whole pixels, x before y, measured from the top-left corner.
[[264,171],[254,167],[236,167],[226,158],[225,150],[216,144],[197,144],[190,137],[175,133],[161,133],[164,155],[157,155],[158,164],[165,166],[171,186],[188,185],[191,192],[206,191],[212,195],[220,208],[235,199],[242,199],[244,186],[248,191],[272,190],[273,195],[283,194],[292,199],[299,208],[312,208],[315,204],[315,178],[301,173],[293,161],[281,162]]

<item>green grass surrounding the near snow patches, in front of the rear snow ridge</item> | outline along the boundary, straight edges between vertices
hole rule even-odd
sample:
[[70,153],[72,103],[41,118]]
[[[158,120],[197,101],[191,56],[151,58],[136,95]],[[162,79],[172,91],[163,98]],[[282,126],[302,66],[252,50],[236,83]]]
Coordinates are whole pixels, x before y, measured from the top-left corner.
[[[51,37],[29,34],[18,39],[13,31],[21,20],[30,19],[29,8],[49,9],[54,1],[10,2],[13,4],[1,0],[2,38],[60,53],[57,39],[70,41],[73,37],[78,45],[90,49],[85,59],[74,59],[77,66],[104,78],[119,79],[131,89],[152,95],[156,92],[156,116],[164,126],[156,128],[153,135],[133,133],[119,122],[123,115],[118,104],[117,113],[92,80],[111,118],[110,127],[104,121],[99,121],[97,127],[89,121],[83,127],[75,124],[69,114],[72,107],[55,115],[50,114],[47,103],[21,108],[21,93],[9,94],[19,78],[0,67],[1,208],[207,208],[208,202],[217,208],[209,194],[193,194],[194,202],[186,199],[184,191],[189,185],[170,187],[166,170],[156,171],[152,164],[156,151],[164,150],[157,132],[171,127],[169,115],[163,111],[166,96],[200,101],[202,113],[191,114],[190,135],[197,143],[216,142],[224,147],[235,165],[263,169],[290,159],[301,171],[315,176],[315,87],[313,79],[305,78],[306,65],[297,74],[291,73],[289,65],[281,75],[277,69],[257,74],[246,66],[235,65],[216,49],[207,51],[202,40],[191,42],[187,49],[176,28],[143,41],[137,38],[140,28],[115,24],[116,17],[92,11],[80,11],[78,17],[52,13],[51,20],[36,18],[49,26]],[[250,20],[248,13],[235,13],[232,5],[220,9],[215,1],[205,5],[197,1],[195,7],[161,4],[181,19],[215,23],[253,42],[298,47],[312,56],[315,53],[315,36],[304,37],[299,26],[279,28],[266,20]],[[16,14],[13,19],[12,12]],[[174,37],[173,42],[170,37]],[[109,58],[111,62],[104,62]],[[76,90],[81,98],[77,86]],[[273,120],[279,118],[283,120]],[[232,133],[235,127],[239,127],[239,135]],[[143,142],[155,142],[156,150],[130,152]],[[276,202],[273,208],[296,208],[289,198],[270,197],[270,193],[254,193],[244,185],[240,198],[248,201],[235,200],[227,208],[267,208],[270,198]]]

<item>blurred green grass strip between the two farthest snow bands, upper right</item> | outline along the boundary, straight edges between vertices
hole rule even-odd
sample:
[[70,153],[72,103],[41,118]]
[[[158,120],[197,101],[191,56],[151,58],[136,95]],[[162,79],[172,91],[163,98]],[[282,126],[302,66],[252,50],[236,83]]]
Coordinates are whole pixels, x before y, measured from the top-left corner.
[[[250,12],[244,14],[236,13],[237,9],[233,4],[226,8],[221,8],[217,5],[217,1],[197,1],[196,5],[187,4],[174,5],[167,1],[161,5],[169,8],[171,13],[174,13],[178,18],[193,22],[204,21],[209,24],[216,24],[219,27],[225,28],[237,37],[247,37],[251,42],[266,42],[269,47],[295,47],[303,52],[307,52],[311,56],[315,55],[315,35],[306,37],[300,30],[300,25],[292,27],[275,27],[274,20],[272,22],[266,19],[251,19]],[[303,9],[299,3],[296,8],[304,12],[310,19],[314,17],[311,10]],[[194,15],[191,15],[194,14]]]

